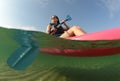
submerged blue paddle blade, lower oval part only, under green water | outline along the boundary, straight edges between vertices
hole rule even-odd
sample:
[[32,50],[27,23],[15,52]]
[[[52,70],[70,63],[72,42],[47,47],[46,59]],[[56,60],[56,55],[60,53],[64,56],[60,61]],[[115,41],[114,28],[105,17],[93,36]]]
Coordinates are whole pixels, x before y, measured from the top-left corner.
[[26,48],[22,47],[17,49],[7,60],[9,67],[15,70],[24,70],[26,69],[37,57],[38,48],[31,49],[23,57],[21,56],[22,51]]

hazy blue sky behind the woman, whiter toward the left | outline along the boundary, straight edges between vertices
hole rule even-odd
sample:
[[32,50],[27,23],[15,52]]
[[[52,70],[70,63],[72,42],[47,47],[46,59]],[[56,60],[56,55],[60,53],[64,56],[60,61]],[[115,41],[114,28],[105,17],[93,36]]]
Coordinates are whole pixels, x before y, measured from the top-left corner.
[[52,15],[88,33],[120,27],[120,0],[0,0],[0,26],[45,32]]

